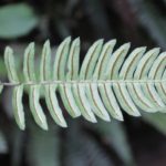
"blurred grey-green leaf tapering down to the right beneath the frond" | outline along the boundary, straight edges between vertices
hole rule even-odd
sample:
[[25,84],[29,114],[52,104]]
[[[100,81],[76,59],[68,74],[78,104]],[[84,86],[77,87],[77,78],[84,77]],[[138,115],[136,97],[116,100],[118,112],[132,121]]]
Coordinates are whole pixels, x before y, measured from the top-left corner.
[[102,139],[115,149],[126,166],[134,165],[127,134],[121,122],[112,121],[112,123],[107,124],[98,121],[94,127],[101,134]]

